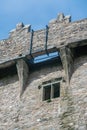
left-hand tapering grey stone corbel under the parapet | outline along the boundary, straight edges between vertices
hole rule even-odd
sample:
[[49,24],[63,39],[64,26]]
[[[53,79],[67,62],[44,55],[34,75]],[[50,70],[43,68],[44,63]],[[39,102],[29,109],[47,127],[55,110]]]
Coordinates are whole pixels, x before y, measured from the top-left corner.
[[20,97],[21,97],[27,87],[29,67],[23,59],[17,61],[16,67],[17,67],[17,73],[19,77]]

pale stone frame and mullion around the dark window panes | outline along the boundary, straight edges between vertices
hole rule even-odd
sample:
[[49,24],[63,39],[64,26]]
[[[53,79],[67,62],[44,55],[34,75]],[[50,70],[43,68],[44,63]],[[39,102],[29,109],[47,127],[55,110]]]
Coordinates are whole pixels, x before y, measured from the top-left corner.
[[[46,81],[46,82],[43,82],[42,84],[42,101],[47,101],[47,100],[51,100],[51,99],[55,99],[55,98],[59,98],[61,96],[61,79],[62,78],[56,78],[56,79],[53,79],[53,80],[50,80],[50,81]],[[57,97],[54,97],[54,85],[55,84],[59,84],[59,95]],[[50,86],[51,87],[51,90],[50,90],[50,98],[49,99],[45,99],[45,88]]]

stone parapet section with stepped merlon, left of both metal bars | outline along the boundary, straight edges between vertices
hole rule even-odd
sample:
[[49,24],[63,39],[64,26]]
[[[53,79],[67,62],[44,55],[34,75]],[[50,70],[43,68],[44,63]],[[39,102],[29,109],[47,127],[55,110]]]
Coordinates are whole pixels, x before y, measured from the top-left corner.
[[7,40],[0,41],[0,64],[29,53],[29,28],[30,26],[24,26],[14,29]]

